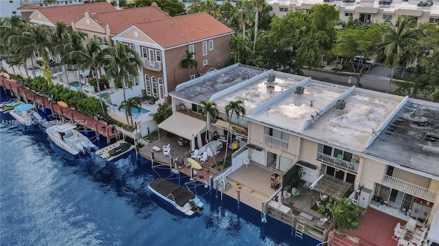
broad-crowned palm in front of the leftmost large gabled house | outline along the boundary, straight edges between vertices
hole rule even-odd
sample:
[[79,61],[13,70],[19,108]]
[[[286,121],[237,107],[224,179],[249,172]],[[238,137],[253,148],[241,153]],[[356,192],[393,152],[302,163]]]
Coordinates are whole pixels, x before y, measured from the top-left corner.
[[[51,43],[49,40],[50,29],[45,25],[29,26],[25,28],[25,31],[21,35],[14,35],[10,37],[12,51],[15,53],[25,53],[32,57],[30,54],[38,52],[38,54],[43,57],[45,61],[45,67],[49,67],[49,53]],[[34,70],[35,77],[35,66],[34,60],[32,60],[32,68]]]

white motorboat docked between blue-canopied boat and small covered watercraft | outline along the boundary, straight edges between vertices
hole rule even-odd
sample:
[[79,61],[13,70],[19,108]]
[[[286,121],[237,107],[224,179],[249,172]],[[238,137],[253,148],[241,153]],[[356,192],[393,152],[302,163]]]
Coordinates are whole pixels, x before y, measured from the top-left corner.
[[80,153],[85,154],[91,148],[96,147],[86,136],[76,131],[75,128],[76,126],[73,124],[62,124],[47,128],[46,133],[58,147],[73,154],[73,156]]

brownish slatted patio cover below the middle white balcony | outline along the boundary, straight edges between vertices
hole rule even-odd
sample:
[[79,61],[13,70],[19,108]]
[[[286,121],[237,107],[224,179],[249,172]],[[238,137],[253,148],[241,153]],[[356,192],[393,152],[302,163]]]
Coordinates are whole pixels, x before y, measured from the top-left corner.
[[338,199],[342,198],[351,186],[352,184],[350,182],[344,182],[343,180],[325,174],[318,180],[313,190]]

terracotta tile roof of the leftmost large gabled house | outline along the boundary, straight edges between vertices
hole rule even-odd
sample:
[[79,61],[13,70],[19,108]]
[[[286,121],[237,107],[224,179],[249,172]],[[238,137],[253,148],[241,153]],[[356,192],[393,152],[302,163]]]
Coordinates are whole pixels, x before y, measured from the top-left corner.
[[38,8],[38,11],[46,16],[51,23],[56,24],[57,21],[62,21],[67,25],[78,20],[88,10],[91,14],[96,12],[117,10],[113,5],[104,1],[99,3],[83,3],[64,6],[53,6],[47,8]]

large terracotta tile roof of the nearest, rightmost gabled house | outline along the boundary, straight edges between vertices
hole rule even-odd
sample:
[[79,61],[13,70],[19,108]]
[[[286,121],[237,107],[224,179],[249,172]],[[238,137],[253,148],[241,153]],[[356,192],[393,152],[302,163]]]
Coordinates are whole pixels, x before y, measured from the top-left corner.
[[186,44],[233,30],[206,12],[134,24],[163,48]]

